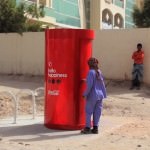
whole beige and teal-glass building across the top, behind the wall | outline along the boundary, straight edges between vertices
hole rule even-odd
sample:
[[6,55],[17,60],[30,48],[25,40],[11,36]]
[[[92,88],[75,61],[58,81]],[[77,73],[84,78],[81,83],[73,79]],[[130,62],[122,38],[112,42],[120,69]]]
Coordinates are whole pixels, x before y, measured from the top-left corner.
[[51,28],[123,29],[133,28],[135,4],[143,0],[16,0],[44,4],[45,17],[39,21]]

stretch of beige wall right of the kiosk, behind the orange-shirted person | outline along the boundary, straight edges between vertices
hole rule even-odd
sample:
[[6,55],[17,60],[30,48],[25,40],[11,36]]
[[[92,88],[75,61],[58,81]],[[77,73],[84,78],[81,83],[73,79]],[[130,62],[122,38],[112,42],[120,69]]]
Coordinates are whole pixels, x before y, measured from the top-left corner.
[[100,61],[106,78],[131,79],[133,51],[137,43],[145,51],[144,82],[150,84],[150,29],[125,29],[96,31],[93,55]]

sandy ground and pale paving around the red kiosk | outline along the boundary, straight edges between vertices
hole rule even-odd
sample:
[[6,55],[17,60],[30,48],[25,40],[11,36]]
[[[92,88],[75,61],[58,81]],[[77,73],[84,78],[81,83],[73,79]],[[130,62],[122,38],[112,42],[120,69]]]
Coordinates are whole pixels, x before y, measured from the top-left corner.
[[43,125],[44,97],[37,100],[33,120],[29,96],[23,95],[17,124],[5,90],[18,92],[44,86],[43,77],[0,76],[0,150],[150,150],[150,87],[129,90],[129,81],[106,81],[98,135],[47,129]]

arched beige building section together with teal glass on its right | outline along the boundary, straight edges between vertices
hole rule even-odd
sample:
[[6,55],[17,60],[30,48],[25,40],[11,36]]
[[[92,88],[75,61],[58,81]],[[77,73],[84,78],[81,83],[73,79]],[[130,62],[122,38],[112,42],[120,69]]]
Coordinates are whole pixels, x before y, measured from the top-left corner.
[[91,5],[91,28],[133,28],[132,13],[139,0],[93,0]]

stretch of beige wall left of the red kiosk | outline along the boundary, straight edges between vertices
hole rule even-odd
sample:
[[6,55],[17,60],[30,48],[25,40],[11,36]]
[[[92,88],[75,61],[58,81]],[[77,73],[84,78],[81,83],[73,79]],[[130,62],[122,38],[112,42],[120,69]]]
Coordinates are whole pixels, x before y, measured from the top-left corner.
[[0,73],[44,73],[44,33],[0,34]]

